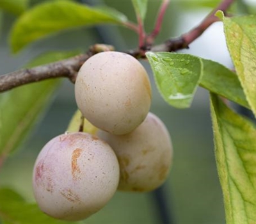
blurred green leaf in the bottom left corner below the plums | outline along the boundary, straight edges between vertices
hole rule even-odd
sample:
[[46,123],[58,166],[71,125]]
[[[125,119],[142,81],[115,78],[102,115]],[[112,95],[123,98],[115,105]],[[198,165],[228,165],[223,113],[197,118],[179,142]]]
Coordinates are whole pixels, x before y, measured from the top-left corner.
[[0,218],[8,224],[71,224],[77,222],[60,221],[44,214],[36,204],[22,200],[22,196],[12,189],[0,189]]

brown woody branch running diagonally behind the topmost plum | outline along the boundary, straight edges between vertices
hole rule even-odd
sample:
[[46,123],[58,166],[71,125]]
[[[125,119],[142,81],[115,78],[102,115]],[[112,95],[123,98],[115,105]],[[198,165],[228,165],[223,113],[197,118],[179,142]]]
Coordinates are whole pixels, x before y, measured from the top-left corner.
[[[188,48],[191,42],[196,40],[196,38],[202,35],[202,33],[204,33],[212,23],[218,20],[214,17],[214,14],[218,10],[225,12],[233,2],[234,0],[221,1],[221,3],[209,15],[207,15],[207,17],[205,17],[198,26],[191,29],[188,33],[185,33],[178,38],[171,38],[164,42],[164,44],[153,45],[152,47],[148,46],[148,50],[155,52],[172,52]],[[12,88],[23,84],[35,83],[37,81],[56,77],[67,77],[74,83],[76,81],[77,72],[81,65],[83,65],[84,61],[97,52],[111,50],[113,50],[113,47],[109,45],[93,45],[86,54],[80,54],[73,58],[68,58],[66,60],[57,61],[47,65],[21,69],[15,72],[10,72],[9,74],[4,74],[0,76],[0,92],[11,90]],[[141,52],[140,49],[129,50],[126,51],[126,53],[131,54],[135,58],[145,58],[145,52]]]

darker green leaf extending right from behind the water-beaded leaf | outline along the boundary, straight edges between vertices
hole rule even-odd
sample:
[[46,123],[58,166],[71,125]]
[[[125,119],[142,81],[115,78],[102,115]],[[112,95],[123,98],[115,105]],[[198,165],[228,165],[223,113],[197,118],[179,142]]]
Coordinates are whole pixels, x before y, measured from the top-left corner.
[[204,76],[200,81],[200,86],[250,108],[243,88],[234,72],[215,61],[205,59],[202,59],[202,61],[204,63]]

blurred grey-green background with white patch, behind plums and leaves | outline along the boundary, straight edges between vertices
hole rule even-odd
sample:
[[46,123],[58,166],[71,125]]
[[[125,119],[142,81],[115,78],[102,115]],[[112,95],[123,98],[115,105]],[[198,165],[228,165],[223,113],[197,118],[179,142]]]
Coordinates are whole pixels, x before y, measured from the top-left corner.
[[[154,19],[160,2],[148,1],[145,20],[145,28],[148,32],[154,28]],[[156,44],[164,42],[171,36],[179,36],[189,31],[204,19],[218,2],[171,1]],[[31,4],[38,3],[40,1],[31,1]],[[131,1],[83,1],[83,3],[107,4],[136,22]],[[247,6],[251,7],[249,3]],[[234,6],[232,10],[237,13],[236,7]],[[12,55],[8,45],[8,35],[15,19],[12,14],[2,13],[0,74],[19,69],[43,52],[70,50],[85,52],[90,45],[97,43],[111,44],[115,46],[116,51],[124,51],[134,49],[138,44],[138,38],[132,31],[108,25],[61,32],[29,45],[17,55]],[[189,46],[188,50],[182,52],[218,61],[232,68],[221,22],[212,25]],[[84,223],[225,223],[221,188],[214,159],[209,93],[199,88],[191,108],[172,108],[157,92],[147,61],[141,63],[147,68],[152,81],[151,111],[163,120],[172,136],[174,150],[172,170],[157,194],[118,192],[104,209]],[[0,186],[16,189],[29,201],[34,201],[31,175],[36,156],[47,141],[65,132],[76,109],[74,84],[63,80],[61,87],[52,97],[47,113],[41,117],[20,150],[4,163],[0,173]]]

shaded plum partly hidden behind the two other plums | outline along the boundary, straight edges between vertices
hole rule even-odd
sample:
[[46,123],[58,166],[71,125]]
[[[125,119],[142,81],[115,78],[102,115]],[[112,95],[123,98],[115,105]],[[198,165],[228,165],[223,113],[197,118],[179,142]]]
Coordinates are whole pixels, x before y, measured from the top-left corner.
[[97,136],[109,143],[118,158],[119,190],[152,191],[168,177],[172,141],[163,122],[153,113],[148,113],[144,122],[129,134],[115,135],[99,130]]

